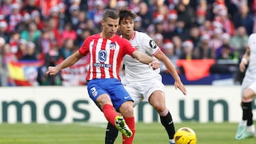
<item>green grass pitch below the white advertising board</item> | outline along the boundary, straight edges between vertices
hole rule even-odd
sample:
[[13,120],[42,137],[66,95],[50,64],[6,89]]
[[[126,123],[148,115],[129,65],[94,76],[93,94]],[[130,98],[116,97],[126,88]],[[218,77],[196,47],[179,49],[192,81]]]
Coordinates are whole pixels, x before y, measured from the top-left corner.
[[[0,124],[0,144],[103,144],[105,123],[73,124]],[[235,140],[238,123],[176,123],[192,128],[197,135],[197,144],[255,144],[256,138]],[[160,123],[136,123],[134,144],[167,144],[168,138]],[[122,143],[121,134],[115,143]]]

